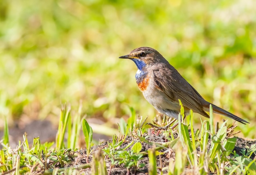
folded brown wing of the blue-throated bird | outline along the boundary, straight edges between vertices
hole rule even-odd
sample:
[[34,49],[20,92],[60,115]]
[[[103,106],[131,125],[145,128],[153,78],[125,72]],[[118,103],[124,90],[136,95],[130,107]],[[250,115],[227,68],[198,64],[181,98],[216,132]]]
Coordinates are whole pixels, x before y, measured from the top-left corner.
[[153,72],[158,90],[164,92],[172,101],[177,101],[178,103],[178,99],[180,99],[185,108],[209,118],[202,105],[202,100],[203,102],[206,101],[173,66],[163,67],[161,70],[154,70]]

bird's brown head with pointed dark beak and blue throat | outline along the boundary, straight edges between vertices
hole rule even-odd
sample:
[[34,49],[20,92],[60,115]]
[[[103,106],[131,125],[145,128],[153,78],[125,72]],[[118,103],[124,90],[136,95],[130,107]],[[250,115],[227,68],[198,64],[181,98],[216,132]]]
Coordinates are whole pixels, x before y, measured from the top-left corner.
[[157,50],[150,47],[139,47],[132,50],[130,54],[120,56],[119,58],[128,58],[132,60],[139,70],[143,70],[147,66],[160,63],[164,59]]

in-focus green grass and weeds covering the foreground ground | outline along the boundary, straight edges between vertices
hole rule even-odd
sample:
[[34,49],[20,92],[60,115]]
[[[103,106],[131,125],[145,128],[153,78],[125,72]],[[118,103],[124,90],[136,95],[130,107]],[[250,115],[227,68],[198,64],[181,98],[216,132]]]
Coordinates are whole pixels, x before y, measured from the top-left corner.
[[[157,173],[186,174],[189,172],[203,175],[209,173],[255,174],[256,159],[252,159],[252,157],[255,156],[256,144],[252,144],[250,147],[245,146],[245,148],[241,148],[239,154],[236,153],[234,148],[237,137],[228,136],[230,128],[227,126],[227,121],[214,131],[213,128],[216,128],[216,125],[213,124],[211,106],[210,110],[210,122],[201,121],[201,128],[195,129],[193,128],[192,111],[189,114],[190,125],[181,122],[184,117],[184,109],[181,104],[177,130],[167,128],[159,132],[159,135],[152,132],[142,133],[141,131],[147,130],[144,121],[138,120],[137,117],[131,117],[133,122],[120,124],[119,136],[113,135],[112,139],[94,147],[90,147],[92,128],[83,119],[82,128],[87,146],[86,151],[85,149],[73,149],[71,148],[72,144],[66,144],[66,141],[63,141],[63,145],[58,144],[62,137],[60,133],[56,134],[56,138],[59,138],[56,139],[56,146],[53,145],[54,143],[40,143],[39,137],[34,138],[33,145],[31,145],[25,133],[23,141],[20,141],[16,148],[11,148],[8,139],[4,138],[3,141],[0,141],[3,146],[0,150],[0,172],[4,175],[9,173],[48,175],[57,172],[111,174],[113,171],[118,172],[117,170],[121,172],[125,168],[126,174],[129,175],[130,172],[142,171],[140,168],[146,166],[142,172],[148,171],[148,174],[152,175]],[[70,121],[67,119],[67,117],[71,117],[69,115],[70,110],[63,107],[58,123],[59,131],[69,132],[70,129],[64,129],[63,126],[70,125],[76,130],[81,127],[77,123],[69,124]],[[142,126],[137,128],[136,121]],[[8,130],[8,126],[6,127],[5,130]],[[124,135],[121,134],[121,130],[125,130]],[[175,132],[176,138],[173,137],[173,132]],[[69,135],[68,137],[74,136]],[[162,142],[159,138],[164,138],[165,141]],[[77,140],[74,145],[76,143]],[[174,157],[172,153],[175,154]],[[165,157],[165,162],[162,162],[161,156]],[[80,161],[83,159],[82,164],[79,159]],[[141,162],[142,159],[144,159],[143,162]]]

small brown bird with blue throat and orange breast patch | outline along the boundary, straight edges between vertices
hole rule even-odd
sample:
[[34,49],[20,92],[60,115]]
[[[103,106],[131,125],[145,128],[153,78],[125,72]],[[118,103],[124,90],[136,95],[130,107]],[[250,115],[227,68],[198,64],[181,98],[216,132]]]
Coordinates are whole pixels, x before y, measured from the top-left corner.
[[139,47],[119,58],[130,59],[136,64],[138,70],[135,79],[139,90],[158,112],[178,120],[180,100],[185,115],[192,110],[210,118],[206,112],[209,112],[209,106],[212,105],[214,113],[243,124],[249,123],[206,101],[157,50],[151,47]]

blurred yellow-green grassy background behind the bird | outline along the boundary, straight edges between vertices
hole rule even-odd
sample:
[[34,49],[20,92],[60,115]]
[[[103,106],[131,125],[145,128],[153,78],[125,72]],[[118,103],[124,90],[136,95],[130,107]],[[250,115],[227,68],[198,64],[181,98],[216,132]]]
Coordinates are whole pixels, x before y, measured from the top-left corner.
[[56,124],[61,103],[76,111],[79,101],[83,114],[109,127],[129,116],[128,106],[153,119],[135,64],[118,59],[148,46],[206,100],[250,121],[238,128],[254,138],[255,7],[255,0],[2,0],[0,127],[3,116],[10,126]]

